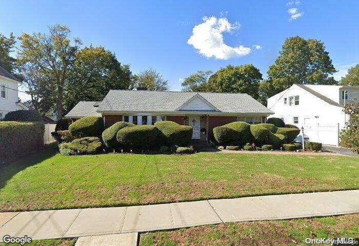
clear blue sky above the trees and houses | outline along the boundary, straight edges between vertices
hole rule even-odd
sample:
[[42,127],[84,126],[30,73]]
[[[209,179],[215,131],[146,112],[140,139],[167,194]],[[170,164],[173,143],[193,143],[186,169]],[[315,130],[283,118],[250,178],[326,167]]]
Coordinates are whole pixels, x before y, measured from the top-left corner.
[[12,0],[2,6],[0,32],[6,36],[67,25],[84,45],[115,52],[134,73],[156,69],[173,91],[181,90],[180,79],[197,70],[216,71],[229,64],[251,63],[265,77],[285,38],[294,35],[325,43],[339,70],[336,78],[359,62],[359,1],[355,0]]

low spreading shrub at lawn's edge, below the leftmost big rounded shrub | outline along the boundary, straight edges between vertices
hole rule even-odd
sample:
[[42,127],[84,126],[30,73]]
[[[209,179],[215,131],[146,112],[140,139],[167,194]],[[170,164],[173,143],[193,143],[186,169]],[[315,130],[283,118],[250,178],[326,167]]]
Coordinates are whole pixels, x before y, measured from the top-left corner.
[[66,146],[68,149],[73,150],[80,155],[94,155],[103,150],[102,141],[98,137],[77,138],[73,140],[71,144]]

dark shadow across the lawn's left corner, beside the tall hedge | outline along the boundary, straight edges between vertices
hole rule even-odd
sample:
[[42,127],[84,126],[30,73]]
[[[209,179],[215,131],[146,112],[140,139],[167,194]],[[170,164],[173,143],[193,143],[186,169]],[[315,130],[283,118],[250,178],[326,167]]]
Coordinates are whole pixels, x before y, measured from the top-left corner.
[[0,189],[2,189],[7,181],[9,181],[16,173],[36,165],[58,153],[58,149],[54,146],[46,146],[41,151],[28,154],[15,161],[5,162],[0,165]]

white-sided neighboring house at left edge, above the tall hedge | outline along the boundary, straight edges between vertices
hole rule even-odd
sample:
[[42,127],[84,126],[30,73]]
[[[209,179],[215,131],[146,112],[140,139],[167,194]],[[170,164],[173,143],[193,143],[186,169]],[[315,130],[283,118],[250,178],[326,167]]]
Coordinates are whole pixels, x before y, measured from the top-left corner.
[[0,119],[17,110],[18,101],[17,88],[20,81],[11,73],[0,67]]

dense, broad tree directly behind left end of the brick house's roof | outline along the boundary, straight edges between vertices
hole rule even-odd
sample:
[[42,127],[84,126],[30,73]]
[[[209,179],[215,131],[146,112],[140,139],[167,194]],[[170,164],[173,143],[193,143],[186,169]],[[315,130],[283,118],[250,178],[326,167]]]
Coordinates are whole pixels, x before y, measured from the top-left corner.
[[100,101],[109,90],[133,88],[128,65],[121,65],[115,54],[104,47],[86,47],[76,53],[69,83],[66,86],[64,107],[71,110],[79,101]]

